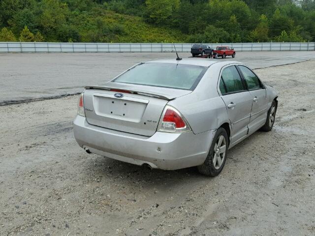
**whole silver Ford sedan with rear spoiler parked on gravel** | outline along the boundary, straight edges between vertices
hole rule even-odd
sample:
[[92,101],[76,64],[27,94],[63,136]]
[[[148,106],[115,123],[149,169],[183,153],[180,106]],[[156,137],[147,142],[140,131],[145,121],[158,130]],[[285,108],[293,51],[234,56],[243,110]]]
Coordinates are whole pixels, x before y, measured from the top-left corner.
[[197,166],[217,176],[229,148],[272,129],[277,97],[237,61],[151,60],[85,87],[74,137],[88,153],[163,170]]

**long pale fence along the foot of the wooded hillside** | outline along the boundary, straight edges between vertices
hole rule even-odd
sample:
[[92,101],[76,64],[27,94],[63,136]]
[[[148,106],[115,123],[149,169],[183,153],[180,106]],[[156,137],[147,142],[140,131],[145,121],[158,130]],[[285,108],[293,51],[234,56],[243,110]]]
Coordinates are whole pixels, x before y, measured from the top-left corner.
[[[190,52],[191,43],[175,43],[178,52]],[[172,43],[24,43],[0,42],[0,53],[130,53],[174,52]],[[209,43],[242,51],[315,51],[315,43]]]

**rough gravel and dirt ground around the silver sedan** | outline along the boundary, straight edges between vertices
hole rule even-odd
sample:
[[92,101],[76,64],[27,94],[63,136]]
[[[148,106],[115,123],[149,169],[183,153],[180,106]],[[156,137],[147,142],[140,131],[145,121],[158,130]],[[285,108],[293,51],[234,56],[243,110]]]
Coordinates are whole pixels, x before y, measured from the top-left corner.
[[147,170],[76,144],[76,96],[0,106],[0,235],[315,235],[315,60],[255,70],[274,129],[221,175]]

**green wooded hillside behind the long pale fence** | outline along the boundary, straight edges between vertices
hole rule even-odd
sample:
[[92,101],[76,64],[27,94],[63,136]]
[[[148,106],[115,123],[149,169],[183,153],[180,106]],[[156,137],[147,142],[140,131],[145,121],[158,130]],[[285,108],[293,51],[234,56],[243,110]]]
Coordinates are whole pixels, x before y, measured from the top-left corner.
[[1,0],[0,41],[315,41],[315,0]]

